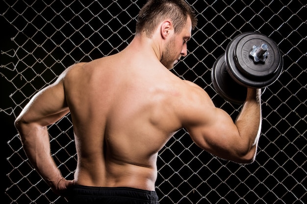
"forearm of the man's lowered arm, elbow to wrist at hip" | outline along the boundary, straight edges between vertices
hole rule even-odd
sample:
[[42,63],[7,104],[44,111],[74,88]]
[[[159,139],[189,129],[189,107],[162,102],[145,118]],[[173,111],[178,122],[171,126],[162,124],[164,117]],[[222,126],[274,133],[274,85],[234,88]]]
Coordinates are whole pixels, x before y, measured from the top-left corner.
[[51,157],[47,127],[21,123],[17,128],[29,161],[48,185],[52,189],[56,188],[63,177]]

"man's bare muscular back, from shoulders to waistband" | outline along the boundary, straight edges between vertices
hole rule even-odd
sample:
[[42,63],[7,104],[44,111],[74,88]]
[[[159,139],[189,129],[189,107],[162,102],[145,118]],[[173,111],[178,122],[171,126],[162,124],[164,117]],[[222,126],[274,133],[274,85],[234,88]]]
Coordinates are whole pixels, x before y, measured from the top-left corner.
[[118,55],[77,64],[64,78],[75,183],[154,190],[157,152],[181,127],[174,110],[183,82],[158,62],[132,64]]

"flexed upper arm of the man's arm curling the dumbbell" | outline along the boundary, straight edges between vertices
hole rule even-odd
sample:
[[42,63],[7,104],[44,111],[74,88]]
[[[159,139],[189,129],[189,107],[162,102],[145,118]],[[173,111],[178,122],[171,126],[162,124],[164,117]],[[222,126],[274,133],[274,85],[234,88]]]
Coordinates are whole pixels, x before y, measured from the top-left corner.
[[[193,141],[202,149],[223,159],[236,160],[246,152],[242,139],[228,113],[216,108],[208,94],[192,86],[184,100],[182,121]],[[242,155],[241,155],[242,154]]]

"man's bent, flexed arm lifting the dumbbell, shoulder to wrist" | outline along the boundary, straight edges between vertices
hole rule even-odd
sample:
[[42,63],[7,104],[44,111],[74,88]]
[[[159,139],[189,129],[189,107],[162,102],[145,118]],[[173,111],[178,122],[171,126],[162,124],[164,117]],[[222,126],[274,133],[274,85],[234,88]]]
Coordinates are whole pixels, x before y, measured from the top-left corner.
[[228,113],[216,108],[201,88],[192,90],[184,126],[194,142],[222,159],[253,162],[261,129],[260,90],[248,89],[235,122]]

